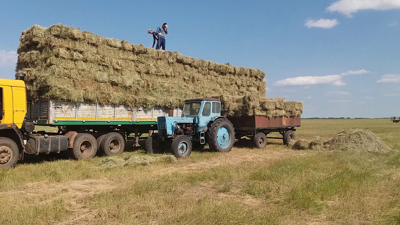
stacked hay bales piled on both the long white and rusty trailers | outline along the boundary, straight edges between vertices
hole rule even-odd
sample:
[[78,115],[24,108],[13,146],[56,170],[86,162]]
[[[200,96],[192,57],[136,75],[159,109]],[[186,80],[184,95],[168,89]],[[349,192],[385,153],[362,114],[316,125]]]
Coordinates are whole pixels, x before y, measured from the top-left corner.
[[221,98],[225,115],[295,116],[301,102],[268,99],[264,72],[218,64],[104,38],[79,28],[34,25],[22,32],[17,72],[28,99],[129,106],[182,106],[185,99]]

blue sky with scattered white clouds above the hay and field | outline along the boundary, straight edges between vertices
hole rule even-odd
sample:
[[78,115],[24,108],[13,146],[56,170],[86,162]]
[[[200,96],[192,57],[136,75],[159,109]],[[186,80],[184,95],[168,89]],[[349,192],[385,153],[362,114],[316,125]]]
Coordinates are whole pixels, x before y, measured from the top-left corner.
[[4,1],[0,78],[14,78],[21,31],[62,23],[266,73],[267,96],[303,101],[304,117],[400,115],[400,0]]

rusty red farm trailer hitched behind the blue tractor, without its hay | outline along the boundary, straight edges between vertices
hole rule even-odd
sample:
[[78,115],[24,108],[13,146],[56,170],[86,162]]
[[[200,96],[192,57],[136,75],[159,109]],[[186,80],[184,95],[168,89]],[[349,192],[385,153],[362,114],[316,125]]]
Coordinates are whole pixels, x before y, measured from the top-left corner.
[[[289,140],[296,140],[296,127],[301,126],[300,117],[266,117],[245,116],[228,118],[235,128],[236,138],[239,141],[243,137],[252,139],[256,147],[263,149],[267,145],[267,139],[282,139],[287,145]],[[279,133],[282,137],[267,137],[270,133]]]

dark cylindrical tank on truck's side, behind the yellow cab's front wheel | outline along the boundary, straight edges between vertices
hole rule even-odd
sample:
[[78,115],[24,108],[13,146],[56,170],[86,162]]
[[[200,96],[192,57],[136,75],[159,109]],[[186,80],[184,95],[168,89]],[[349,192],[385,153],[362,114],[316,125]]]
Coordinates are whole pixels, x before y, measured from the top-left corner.
[[68,149],[68,137],[64,135],[30,137],[26,142],[25,153],[60,153]]

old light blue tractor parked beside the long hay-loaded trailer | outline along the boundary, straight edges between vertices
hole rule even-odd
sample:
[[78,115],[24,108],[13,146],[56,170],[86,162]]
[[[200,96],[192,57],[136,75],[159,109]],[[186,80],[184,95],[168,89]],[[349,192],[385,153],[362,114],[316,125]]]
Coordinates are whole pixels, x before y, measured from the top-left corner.
[[182,117],[158,117],[158,133],[146,140],[148,153],[171,148],[177,157],[189,156],[193,146],[208,144],[212,151],[228,152],[235,143],[232,123],[221,116],[221,102],[216,98],[185,100]]

